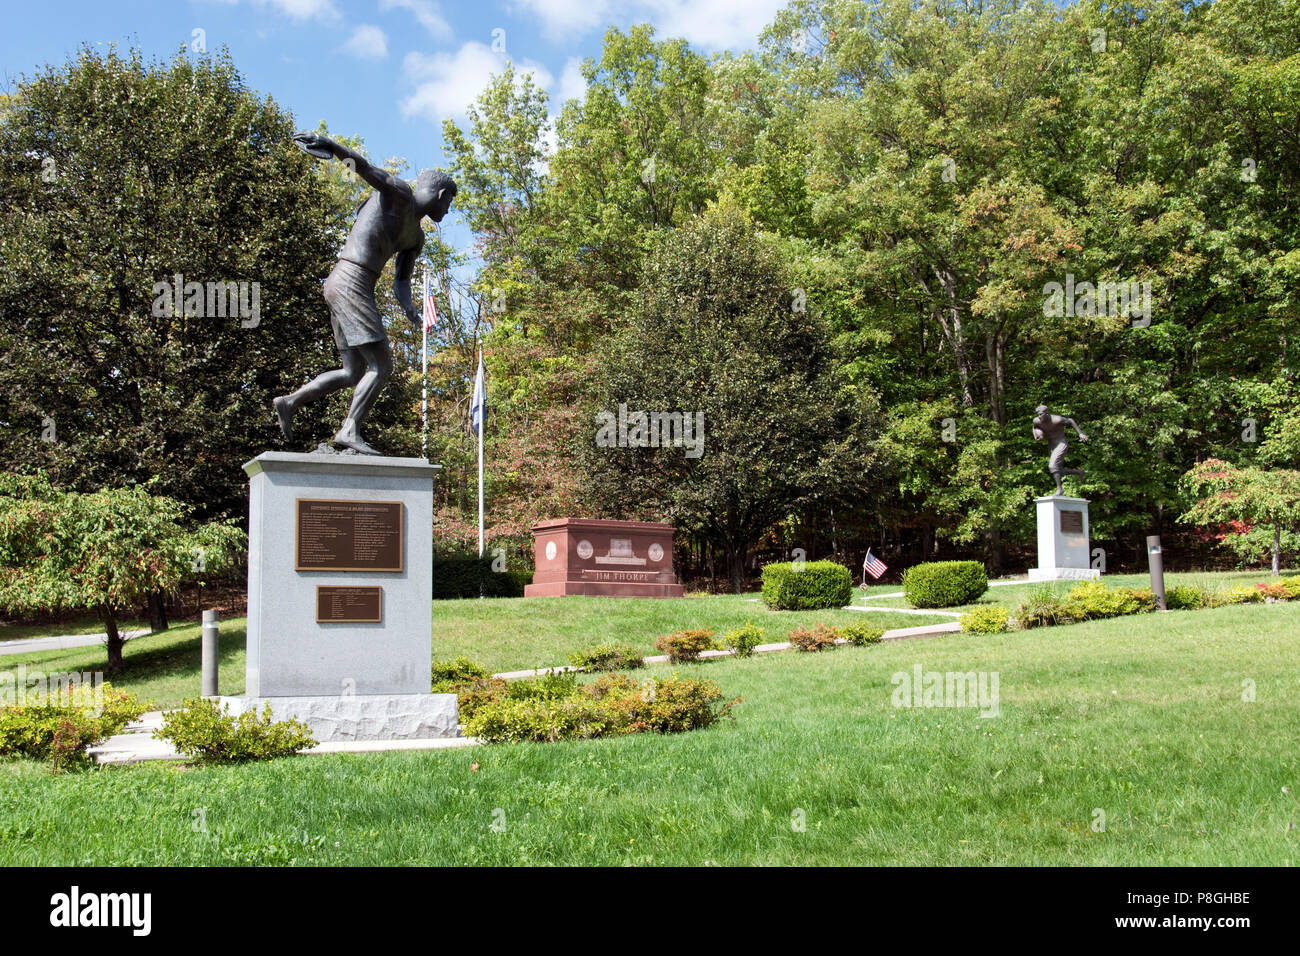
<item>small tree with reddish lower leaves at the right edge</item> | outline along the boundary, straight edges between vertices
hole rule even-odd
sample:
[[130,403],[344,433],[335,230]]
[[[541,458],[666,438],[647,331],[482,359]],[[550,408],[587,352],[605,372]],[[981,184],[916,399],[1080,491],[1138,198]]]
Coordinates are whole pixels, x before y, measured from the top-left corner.
[[1243,544],[1256,525],[1273,532],[1273,574],[1282,571],[1282,533],[1300,525],[1300,471],[1238,468],[1210,458],[1183,476],[1196,499],[1182,520],[1199,525],[1235,525],[1223,537]]

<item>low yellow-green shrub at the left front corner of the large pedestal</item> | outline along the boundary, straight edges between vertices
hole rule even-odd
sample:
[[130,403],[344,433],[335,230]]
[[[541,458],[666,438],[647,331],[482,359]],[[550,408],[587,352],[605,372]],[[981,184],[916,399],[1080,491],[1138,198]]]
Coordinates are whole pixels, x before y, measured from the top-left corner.
[[306,723],[276,721],[269,702],[260,715],[250,710],[234,717],[229,708],[218,710],[216,702],[202,697],[162,714],[162,727],[153,736],[205,763],[290,757],[316,745]]

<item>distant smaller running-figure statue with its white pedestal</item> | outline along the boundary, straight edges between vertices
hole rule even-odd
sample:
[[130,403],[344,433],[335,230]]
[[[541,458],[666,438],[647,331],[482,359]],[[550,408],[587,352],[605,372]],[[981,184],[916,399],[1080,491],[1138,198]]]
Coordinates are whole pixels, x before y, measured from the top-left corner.
[[1053,415],[1045,405],[1037,407],[1034,438],[1048,442],[1048,472],[1056,480],[1056,494],[1034,499],[1039,519],[1039,566],[1030,568],[1031,581],[1095,580],[1101,576],[1101,571],[1092,567],[1088,499],[1067,497],[1061,485],[1066,475],[1084,475],[1082,468],[1065,467],[1065,454],[1070,449],[1066,425],[1075,431],[1079,441],[1088,441],[1074,419]]

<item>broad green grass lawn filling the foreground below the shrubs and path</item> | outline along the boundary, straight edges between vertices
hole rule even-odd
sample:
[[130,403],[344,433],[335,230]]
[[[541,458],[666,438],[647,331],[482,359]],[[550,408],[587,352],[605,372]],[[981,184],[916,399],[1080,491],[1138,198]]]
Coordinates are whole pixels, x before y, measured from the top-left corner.
[[[463,613],[503,606],[484,604]],[[1295,865],[1297,650],[1300,604],[1239,605],[685,666],[745,701],[684,735],[62,777],[9,761],[0,865]],[[996,671],[1000,715],[892,706],[915,665]]]

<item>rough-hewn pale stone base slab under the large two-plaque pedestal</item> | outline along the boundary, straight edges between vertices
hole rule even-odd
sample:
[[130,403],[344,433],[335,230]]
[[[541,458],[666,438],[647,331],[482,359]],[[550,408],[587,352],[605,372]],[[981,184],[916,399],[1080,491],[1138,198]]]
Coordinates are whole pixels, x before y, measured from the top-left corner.
[[454,693],[370,693],[351,697],[220,697],[231,714],[261,713],[306,723],[317,743],[430,740],[460,735]]

